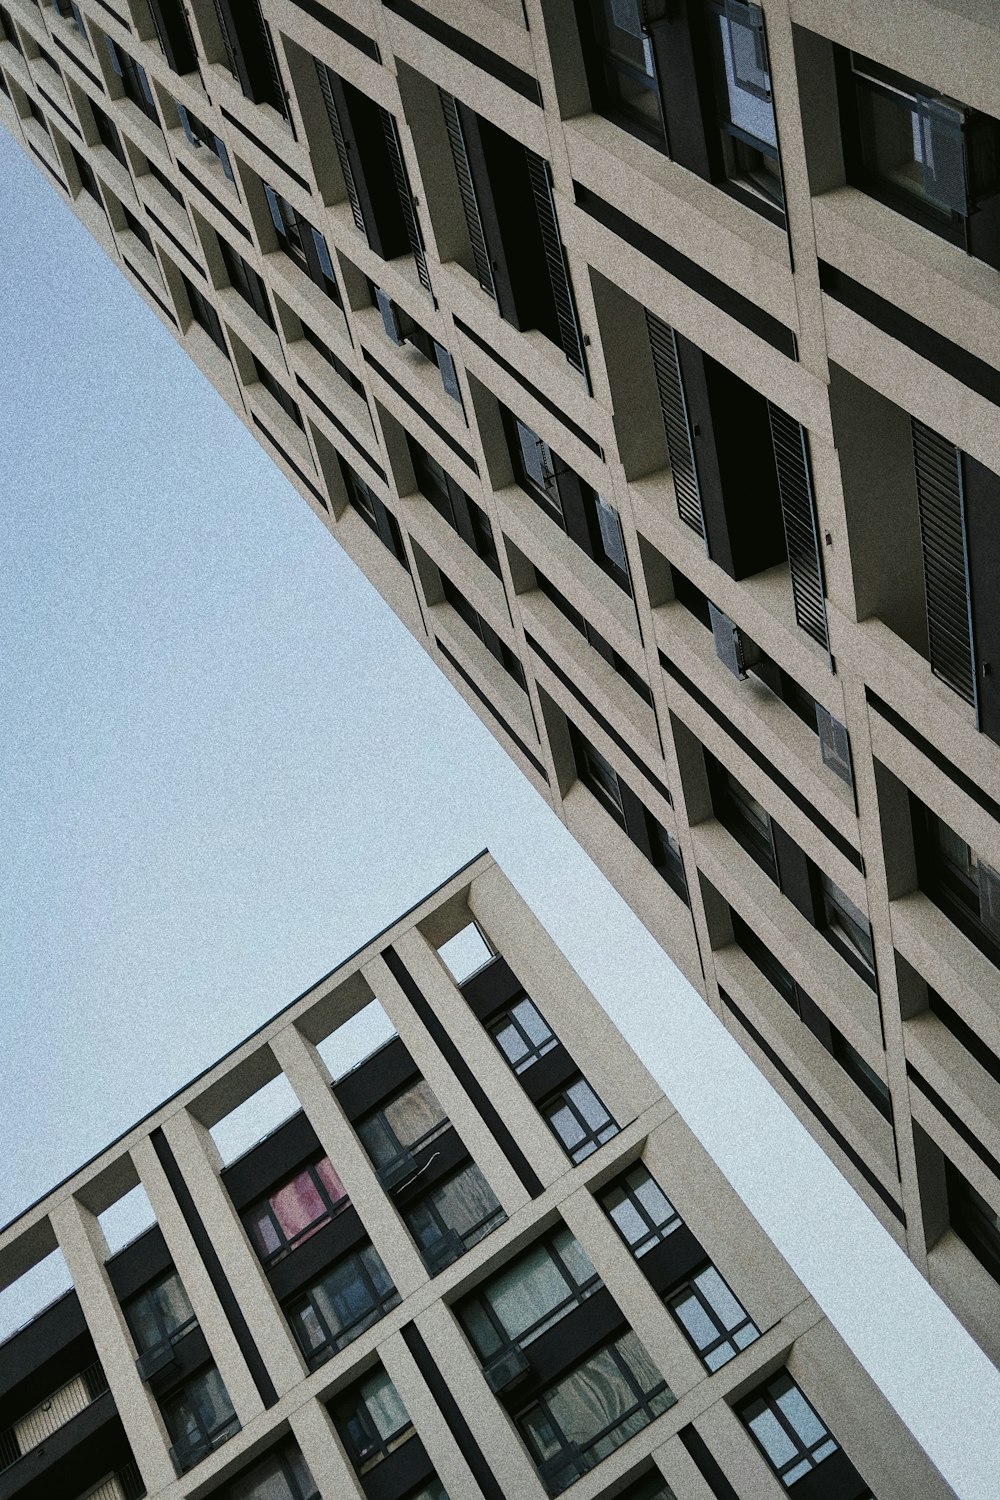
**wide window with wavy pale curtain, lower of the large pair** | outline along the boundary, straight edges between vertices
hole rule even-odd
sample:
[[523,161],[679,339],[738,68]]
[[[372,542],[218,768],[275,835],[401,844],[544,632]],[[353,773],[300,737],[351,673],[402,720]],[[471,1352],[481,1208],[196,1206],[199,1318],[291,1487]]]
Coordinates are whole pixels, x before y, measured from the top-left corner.
[[675,1395],[631,1330],[517,1416],[549,1494],[559,1494],[672,1407]]

